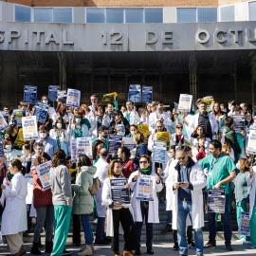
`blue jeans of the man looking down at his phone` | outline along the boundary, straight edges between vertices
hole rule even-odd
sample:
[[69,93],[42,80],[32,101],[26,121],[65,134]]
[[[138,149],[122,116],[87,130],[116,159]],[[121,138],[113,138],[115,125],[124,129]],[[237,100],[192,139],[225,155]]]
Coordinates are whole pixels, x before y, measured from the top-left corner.
[[[188,243],[186,237],[186,220],[189,214],[192,221],[192,201],[184,202],[178,200],[178,211],[177,211],[177,239],[179,246],[179,253],[188,255]],[[203,253],[204,238],[202,229],[193,229],[194,232],[194,243],[196,247],[196,254]]]

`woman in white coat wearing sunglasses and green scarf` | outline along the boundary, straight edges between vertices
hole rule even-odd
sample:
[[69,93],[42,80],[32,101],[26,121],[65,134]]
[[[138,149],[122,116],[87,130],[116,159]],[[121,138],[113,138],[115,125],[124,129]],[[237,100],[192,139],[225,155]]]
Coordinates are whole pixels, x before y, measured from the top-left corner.
[[[134,210],[134,219],[135,219],[136,231],[137,231],[136,255],[141,255],[140,235],[141,235],[141,229],[144,221],[146,223],[146,233],[147,233],[147,242],[146,242],[147,253],[154,254],[154,250],[152,248],[153,224],[159,223],[158,198],[156,196],[156,192],[160,192],[163,186],[159,176],[157,174],[152,174],[151,172],[151,167],[150,167],[151,157],[149,155],[140,155],[138,162],[139,162],[138,171],[131,174],[128,181],[128,183],[131,186],[131,190],[133,191],[131,203]],[[152,201],[151,200],[140,201],[137,199],[137,194],[139,190],[139,184],[137,182],[137,178],[141,174],[153,176],[155,178],[155,184],[153,184],[153,187],[155,187],[155,191],[153,194]]]

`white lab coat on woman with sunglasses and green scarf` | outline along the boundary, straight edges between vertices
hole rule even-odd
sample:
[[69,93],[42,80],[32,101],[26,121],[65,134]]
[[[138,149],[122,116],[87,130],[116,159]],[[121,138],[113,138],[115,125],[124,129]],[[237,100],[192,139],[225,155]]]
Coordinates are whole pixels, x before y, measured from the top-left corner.
[[[134,210],[134,220],[135,222],[142,222],[141,209],[140,209],[140,200],[136,199],[137,195],[137,181],[133,182],[134,176],[138,174],[138,171],[134,172],[130,175],[128,183],[131,186],[131,190],[133,194],[131,196],[132,208]],[[151,174],[152,176],[157,176],[156,174]],[[149,201],[149,216],[148,223],[159,223],[159,214],[158,214],[158,198],[156,196],[156,192],[160,192],[163,189],[163,185],[160,182],[159,184],[155,184],[155,194],[154,201]]]

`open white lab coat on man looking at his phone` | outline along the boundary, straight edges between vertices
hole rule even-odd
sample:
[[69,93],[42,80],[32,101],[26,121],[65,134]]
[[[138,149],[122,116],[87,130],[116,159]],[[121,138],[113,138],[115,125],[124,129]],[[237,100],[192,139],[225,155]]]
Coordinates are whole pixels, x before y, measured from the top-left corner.
[[[175,160],[171,163],[169,169],[169,176],[166,180],[166,188],[172,193],[172,207],[166,210],[173,210],[173,229],[177,229],[177,204],[178,204],[178,190],[173,190],[174,183],[177,182],[178,171],[175,169],[178,165],[178,161]],[[202,171],[199,164],[195,163],[192,166],[190,173],[190,183],[192,183],[192,228],[200,229],[204,227],[204,200],[203,200],[203,188],[206,187],[206,176]]]

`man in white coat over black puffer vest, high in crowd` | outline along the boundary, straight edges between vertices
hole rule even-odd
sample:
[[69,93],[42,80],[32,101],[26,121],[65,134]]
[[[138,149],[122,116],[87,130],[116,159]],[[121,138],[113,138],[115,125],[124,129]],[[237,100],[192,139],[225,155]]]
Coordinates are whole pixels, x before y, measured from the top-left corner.
[[204,101],[199,103],[199,113],[193,116],[192,123],[190,123],[192,131],[197,125],[202,125],[206,131],[206,137],[210,140],[218,136],[218,123],[216,118],[207,112],[207,104]]

